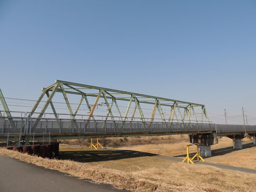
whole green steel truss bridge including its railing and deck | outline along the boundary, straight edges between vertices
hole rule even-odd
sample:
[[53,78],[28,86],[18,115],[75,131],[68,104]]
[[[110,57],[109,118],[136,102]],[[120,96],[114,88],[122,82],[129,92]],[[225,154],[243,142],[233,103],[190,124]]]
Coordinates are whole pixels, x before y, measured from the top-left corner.
[[[54,107],[57,94],[63,98],[68,116]],[[79,97],[75,109],[68,95]],[[255,137],[256,133],[256,125],[212,124],[201,104],[59,80],[43,88],[29,113],[12,116],[14,111],[7,107],[1,90],[0,101],[4,109],[0,111],[0,141],[6,141],[7,137],[9,141],[17,140],[18,135],[31,140],[45,135],[51,139],[70,139],[185,133]],[[43,105],[41,110],[39,105]],[[79,110],[82,105],[88,113],[82,114]],[[125,111],[120,109],[121,105],[126,105]],[[97,111],[99,106],[101,114]],[[52,113],[46,113],[49,108]],[[151,110],[149,116],[145,115],[147,110]]]

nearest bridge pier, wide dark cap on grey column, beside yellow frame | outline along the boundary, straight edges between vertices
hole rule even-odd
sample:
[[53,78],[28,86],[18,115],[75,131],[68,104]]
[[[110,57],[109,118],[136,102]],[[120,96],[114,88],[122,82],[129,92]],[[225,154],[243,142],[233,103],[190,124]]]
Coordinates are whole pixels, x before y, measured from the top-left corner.
[[189,135],[191,143],[199,144],[199,155],[202,157],[211,157],[211,145],[218,143],[218,138],[213,133],[201,133]]

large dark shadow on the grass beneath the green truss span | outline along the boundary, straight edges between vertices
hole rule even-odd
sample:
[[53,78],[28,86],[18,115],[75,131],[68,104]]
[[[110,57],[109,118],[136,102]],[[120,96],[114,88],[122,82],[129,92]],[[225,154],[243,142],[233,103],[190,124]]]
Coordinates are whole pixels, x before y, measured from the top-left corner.
[[71,159],[76,162],[100,162],[124,158],[156,156],[133,150],[91,150],[91,151],[60,151],[59,159]]

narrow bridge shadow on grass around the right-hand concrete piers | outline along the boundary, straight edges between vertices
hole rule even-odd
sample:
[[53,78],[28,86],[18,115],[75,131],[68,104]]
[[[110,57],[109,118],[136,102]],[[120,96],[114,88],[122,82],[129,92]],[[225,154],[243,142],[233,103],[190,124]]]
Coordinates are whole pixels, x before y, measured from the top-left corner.
[[[251,143],[246,143],[243,145],[243,149],[246,148],[251,148],[251,147],[255,147],[255,145],[253,145],[253,142]],[[243,150],[243,149],[233,149],[233,146],[231,147],[225,147],[225,148],[220,148],[220,149],[213,149],[212,150],[212,156],[219,156],[219,155],[225,155],[225,154],[229,154],[233,151],[237,151],[237,150]],[[190,155],[195,155],[196,153],[191,153]],[[187,154],[182,154],[182,155],[178,155],[175,157],[186,157]],[[209,158],[209,157],[204,157],[204,158]]]

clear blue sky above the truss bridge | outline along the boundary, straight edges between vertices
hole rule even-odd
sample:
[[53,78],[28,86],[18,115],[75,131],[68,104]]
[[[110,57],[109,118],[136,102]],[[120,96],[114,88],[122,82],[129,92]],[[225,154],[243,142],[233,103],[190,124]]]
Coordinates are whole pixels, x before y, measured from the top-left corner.
[[256,118],[255,34],[255,1],[0,0],[0,88],[37,99],[61,79]]

